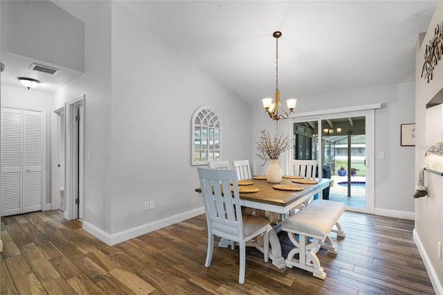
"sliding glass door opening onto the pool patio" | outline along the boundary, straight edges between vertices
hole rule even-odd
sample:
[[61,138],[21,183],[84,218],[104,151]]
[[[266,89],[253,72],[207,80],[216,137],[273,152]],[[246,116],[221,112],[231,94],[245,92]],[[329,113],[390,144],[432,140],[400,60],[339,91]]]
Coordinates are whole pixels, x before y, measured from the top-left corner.
[[343,202],[348,210],[372,213],[374,111],[295,118],[292,129],[292,159],[314,159],[321,167],[318,174],[332,179],[323,198]]

